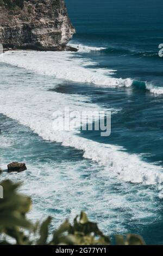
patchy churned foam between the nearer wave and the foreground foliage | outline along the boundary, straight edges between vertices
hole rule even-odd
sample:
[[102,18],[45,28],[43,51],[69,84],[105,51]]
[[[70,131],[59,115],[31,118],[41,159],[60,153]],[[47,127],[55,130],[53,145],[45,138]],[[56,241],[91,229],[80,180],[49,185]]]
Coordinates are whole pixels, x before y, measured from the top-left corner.
[[31,165],[27,161],[27,166],[27,172],[18,176],[11,173],[10,179],[23,180],[21,192],[33,199],[33,210],[28,217],[34,222],[51,215],[54,227],[58,228],[64,218],[72,221],[84,210],[106,234],[115,234],[128,231],[127,216],[134,224],[159,219],[155,212],[159,205],[152,190],[119,182],[107,169],[98,167],[97,170],[94,163],[70,160]]

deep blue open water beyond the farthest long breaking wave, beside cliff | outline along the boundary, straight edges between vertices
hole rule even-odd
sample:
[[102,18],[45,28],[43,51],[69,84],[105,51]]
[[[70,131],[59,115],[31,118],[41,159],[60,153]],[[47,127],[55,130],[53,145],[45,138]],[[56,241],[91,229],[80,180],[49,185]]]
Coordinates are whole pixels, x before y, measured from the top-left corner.
[[74,40],[107,49],[99,65],[116,69],[116,77],[162,86],[162,1],[67,1],[77,34]]

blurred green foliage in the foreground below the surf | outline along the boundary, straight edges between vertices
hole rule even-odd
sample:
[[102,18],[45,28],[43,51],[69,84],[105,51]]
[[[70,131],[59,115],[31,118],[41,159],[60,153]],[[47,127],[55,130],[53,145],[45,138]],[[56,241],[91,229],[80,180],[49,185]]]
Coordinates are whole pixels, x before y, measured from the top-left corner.
[[[66,220],[53,235],[49,234],[51,217],[41,224],[28,221],[26,214],[32,201],[17,192],[20,185],[10,180],[0,183],[4,195],[0,199],[0,245],[110,245],[110,238],[84,212],[73,224]],[[117,245],[145,245],[140,236],[133,234],[115,235],[115,241]]]

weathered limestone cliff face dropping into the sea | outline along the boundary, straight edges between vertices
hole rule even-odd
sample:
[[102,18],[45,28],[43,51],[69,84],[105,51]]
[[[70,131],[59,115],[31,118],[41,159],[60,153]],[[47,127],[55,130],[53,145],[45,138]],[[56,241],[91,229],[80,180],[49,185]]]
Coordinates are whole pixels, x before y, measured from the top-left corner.
[[24,1],[22,9],[1,4],[0,43],[4,48],[62,51],[74,33],[64,0]]

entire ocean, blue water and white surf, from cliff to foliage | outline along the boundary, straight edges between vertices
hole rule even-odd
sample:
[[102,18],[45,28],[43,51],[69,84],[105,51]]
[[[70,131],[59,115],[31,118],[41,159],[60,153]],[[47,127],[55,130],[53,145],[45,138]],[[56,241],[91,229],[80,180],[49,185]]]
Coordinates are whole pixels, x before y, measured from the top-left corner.
[[[72,52],[0,56],[1,179],[23,181],[29,218],[84,210],[108,235],[163,244],[162,1],[67,0]],[[110,110],[111,135],[54,131],[53,113]],[[27,171],[8,174],[24,161]]]

